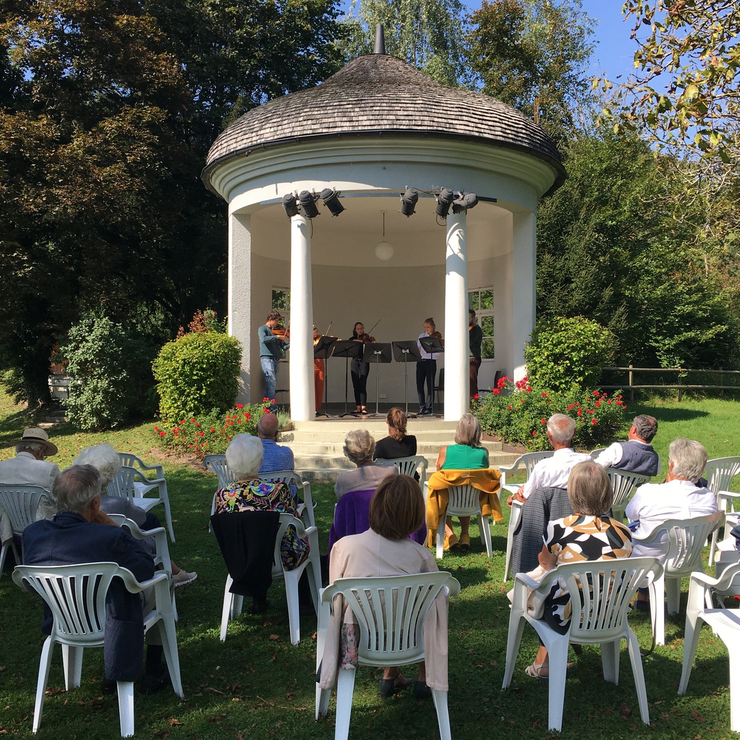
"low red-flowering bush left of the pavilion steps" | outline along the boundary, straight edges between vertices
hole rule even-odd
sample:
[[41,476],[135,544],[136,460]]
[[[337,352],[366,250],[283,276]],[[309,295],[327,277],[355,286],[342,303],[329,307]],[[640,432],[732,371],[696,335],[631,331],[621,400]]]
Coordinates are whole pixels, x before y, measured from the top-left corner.
[[209,411],[198,417],[166,419],[155,425],[152,434],[164,448],[186,454],[223,454],[235,434],[257,434],[262,414],[269,413],[264,403],[244,406],[237,403],[229,411]]

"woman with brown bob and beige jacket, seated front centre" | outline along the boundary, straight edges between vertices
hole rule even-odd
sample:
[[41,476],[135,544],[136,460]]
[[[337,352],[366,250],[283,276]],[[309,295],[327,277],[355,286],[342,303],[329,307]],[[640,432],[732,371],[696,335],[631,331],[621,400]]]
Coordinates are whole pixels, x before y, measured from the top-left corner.
[[[408,475],[390,475],[370,502],[370,528],[362,534],[351,534],[337,540],[329,561],[329,582],[340,578],[402,576],[409,573],[431,573],[439,570],[434,555],[409,535],[423,524],[424,499],[419,484]],[[425,663],[420,663],[414,682],[414,696],[424,699],[431,688],[447,690],[447,608],[440,592],[424,622]],[[349,608],[334,605],[326,636],[326,647],[317,683],[332,688],[337,668],[357,665],[359,637]],[[407,686],[399,667],[386,667],[380,681],[380,696],[388,696]]]

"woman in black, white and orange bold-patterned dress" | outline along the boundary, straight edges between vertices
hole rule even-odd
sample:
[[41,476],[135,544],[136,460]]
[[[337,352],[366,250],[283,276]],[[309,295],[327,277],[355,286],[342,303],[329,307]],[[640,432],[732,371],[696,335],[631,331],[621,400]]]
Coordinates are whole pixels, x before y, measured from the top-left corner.
[[[575,514],[548,524],[539,565],[551,571],[560,563],[616,559],[632,554],[632,535],[622,522],[602,516],[609,511],[613,492],[601,465],[586,460],[573,466],[568,477],[568,499]],[[542,619],[564,635],[571,622],[571,595],[558,579],[545,599]],[[548,651],[540,644],[536,659],[526,668],[528,676],[549,676]]]

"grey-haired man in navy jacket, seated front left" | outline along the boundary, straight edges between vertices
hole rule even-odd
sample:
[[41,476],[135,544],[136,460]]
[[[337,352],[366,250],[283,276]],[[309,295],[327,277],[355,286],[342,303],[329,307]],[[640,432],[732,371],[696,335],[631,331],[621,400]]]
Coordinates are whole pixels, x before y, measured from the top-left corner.
[[[78,565],[116,562],[138,581],[154,575],[154,559],[125,529],[115,525],[100,508],[100,474],[92,465],[73,465],[55,480],[52,495],[58,514],[52,520],[28,525],[23,533],[26,565]],[[144,654],[144,610],[141,596],[129,593],[120,579],[108,590],[104,645],[103,692],[113,693],[115,682],[135,681]],[[50,613],[41,630],[51,631]],[[163,649],[154,644],[158,630],[147,635],[147,669],[141,690],[153,693],[169,681],[162,663]]]

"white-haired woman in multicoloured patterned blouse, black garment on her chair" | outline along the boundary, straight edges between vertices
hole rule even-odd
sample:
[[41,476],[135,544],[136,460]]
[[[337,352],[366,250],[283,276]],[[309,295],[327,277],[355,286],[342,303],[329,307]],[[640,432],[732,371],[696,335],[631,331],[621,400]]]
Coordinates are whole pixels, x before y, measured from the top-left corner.
[[[233,514],[244,511],[277,511],[298,516],[298,499],[283,481],[262,480],[258,471],[262,465],[264,448],[259,437],[237,434],[226,448],[226,464],[237,477],[236,482],[219,488],[215,494],[214,514]],[[217,536],[218,531],[216,531]],[[274,539],[273,539],[274,542]],[[220,542],[221,544],[221,542]],[[223,546],[222,546],[223,548]],[[272,551],[271,551],[272,552]],[[309,556],[308,539],[300,539],[290,526],[280,544],[280,559],[286,570],[293,570]],[[267,608],[266,590],[260,596],[252,594],[252,613]]]

